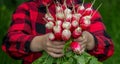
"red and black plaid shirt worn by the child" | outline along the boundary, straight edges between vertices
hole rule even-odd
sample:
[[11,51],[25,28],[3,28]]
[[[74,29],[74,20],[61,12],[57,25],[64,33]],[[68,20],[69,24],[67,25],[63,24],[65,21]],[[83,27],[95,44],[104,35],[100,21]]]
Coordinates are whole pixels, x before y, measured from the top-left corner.
[[[30,50],[31,40],[38,35],[49,33],[45,28],[45,21],[42,19],[46,13],[46,8],[41,2],[34,0],[21,4],[12,15],[12,22],[8,33],[3,40],[2,49],[15,59],[22,59],[23,64],[31,64],[35,59],[41,56],[41,52],[32,52]],[[67,0],[68,1],[68,0]],[[78,0],[80,1],[80,0]],[[75,4],[78,2],[75,0]],[[67,2],[69,4],[69,1]],[[85,7],[90,6],[85,4]],[[54,10],[51,4],[49,10]],[[91,22],[88,31],[94,36],[95,48],[87,51],[103,61],[113,55],[114,46],[111,38],[107,35],[101,16],[97,12]]]

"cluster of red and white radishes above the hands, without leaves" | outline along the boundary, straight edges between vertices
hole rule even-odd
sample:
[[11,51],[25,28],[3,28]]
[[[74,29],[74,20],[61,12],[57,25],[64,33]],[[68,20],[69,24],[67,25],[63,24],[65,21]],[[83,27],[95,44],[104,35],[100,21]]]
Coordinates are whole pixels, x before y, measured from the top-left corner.
[[[76,39],[82,35],[84,30],[89,28],[92,15],[95,13],[92,9],[95,0],[89,7],[83,5],[84,1],[82,5],[73,5],[72,0],[70,2],[73,7],[72,10],[67,7],[66,0],[63,4],[57,2],[55,4],[55,14],[51,14],[46,5],[47,13],[44,20],[47,22],[46,28],[52,30],[49,35],[50,40],[68,41],[70,38]],[[76,51],[74,47],[71,48]]]

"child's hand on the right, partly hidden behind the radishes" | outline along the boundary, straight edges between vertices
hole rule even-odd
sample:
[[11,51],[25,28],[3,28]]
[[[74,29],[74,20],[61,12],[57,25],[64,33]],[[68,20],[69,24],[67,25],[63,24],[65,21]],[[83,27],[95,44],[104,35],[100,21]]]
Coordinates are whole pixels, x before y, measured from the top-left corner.
[[85,49],[92,50],[95,46],[94,37],[88,31],[84,31],[82,33],[82,36],[79,37],[78,39],[75,39],[74,41],[80,42],[80,44],[81,44],[80,53],[82,53]]

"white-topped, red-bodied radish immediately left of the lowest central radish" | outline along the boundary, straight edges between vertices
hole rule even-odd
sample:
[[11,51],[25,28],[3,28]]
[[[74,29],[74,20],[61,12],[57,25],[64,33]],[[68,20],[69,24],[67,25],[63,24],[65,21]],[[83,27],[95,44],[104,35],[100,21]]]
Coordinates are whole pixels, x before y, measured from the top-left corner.
[[56,40],[61,40],[61,35],[62,35],[62,28],[61,26],[54,26],[53,27],[53,32],[55,35]]

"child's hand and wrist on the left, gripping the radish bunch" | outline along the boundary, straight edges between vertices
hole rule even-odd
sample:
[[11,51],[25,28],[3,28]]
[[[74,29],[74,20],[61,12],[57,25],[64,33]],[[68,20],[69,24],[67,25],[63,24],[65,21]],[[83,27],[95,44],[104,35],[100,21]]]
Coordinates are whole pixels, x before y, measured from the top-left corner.
[[63,56],[64,41],[51,41],[48,39],[48,35],[36,36],[33,38],[30,48],[33,52],[45,50],[52,57]]

